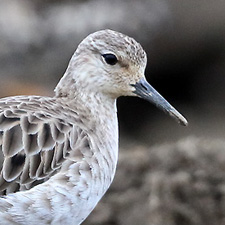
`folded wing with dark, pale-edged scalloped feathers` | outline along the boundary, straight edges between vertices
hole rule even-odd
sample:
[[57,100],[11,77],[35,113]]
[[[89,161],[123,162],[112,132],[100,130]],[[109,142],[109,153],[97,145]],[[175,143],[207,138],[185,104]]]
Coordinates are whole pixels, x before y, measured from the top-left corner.
[[46,106],[37,111],[41,104],[38,98],[35,101],[25,97],[0,101],[0,195],[48,180],[60,169],[71,145],[79,146],[85,137],[78,134],[80,128],[45,113]]

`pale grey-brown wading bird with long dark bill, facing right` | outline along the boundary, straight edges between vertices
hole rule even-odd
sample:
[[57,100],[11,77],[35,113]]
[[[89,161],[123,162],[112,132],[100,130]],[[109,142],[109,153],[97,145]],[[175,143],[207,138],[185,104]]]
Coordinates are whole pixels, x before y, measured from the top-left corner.
[[188,122],[146,80],[147,55],[110,29],[78,45],[53,97],[0,99],[0,224],[81,224],[113,181],[116,100],[143,98]]

